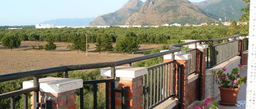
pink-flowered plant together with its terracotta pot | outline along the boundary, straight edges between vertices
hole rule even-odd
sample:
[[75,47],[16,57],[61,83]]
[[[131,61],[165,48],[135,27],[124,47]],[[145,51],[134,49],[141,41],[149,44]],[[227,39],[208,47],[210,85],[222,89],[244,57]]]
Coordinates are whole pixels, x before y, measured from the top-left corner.
[[240,86],[246,83],[246,79],[240,75],[240,69],[242,65],[238,65],[239,68],[234,68],[231,73],[226,73],[226,69],[212,70],[212,74],[216,76],[216,82],[221,91],[222,105],[235,105],[237,104],[237,94],[240,90]]

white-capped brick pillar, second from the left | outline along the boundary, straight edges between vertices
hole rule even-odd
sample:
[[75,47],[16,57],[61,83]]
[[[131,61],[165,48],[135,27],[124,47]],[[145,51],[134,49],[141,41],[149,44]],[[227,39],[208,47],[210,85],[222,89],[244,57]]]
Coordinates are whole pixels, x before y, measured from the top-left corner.
[[[100,69],[102,76],[110,76],[109,72],[110,68]],[[148,70],[144,67],[116,67],[116,78],[118,78],[118,81],[115,82],[115,88],[127,87],[127,101],[124,101],[127,104],[127,108],[142,108],[142,77],[147,73]],[[121,109],[122,102],[121,93],[115,92],[115,108]]]

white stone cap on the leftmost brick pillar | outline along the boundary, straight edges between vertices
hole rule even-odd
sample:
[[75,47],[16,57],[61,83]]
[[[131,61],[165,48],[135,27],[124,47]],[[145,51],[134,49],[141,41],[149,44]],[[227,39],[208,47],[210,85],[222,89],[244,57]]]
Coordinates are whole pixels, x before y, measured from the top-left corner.
[[[41,78],[39,79],[40,91],[49,93],[62,93],[83,87],[82,79],[69,78]],[[23,89],[33,87],[33,80],[23,81]]]

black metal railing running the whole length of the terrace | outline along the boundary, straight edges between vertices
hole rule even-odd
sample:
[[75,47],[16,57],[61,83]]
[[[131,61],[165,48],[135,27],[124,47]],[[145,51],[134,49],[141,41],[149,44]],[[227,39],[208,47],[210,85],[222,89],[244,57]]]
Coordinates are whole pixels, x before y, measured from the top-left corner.
[[[106,108],[109,108],[109,104],[108,104],[108,100],[107,98],[110,98],[111,102],[111,108],[115,108],[115,102],[114,98],[115,98],[115,94],[114,92],[120,92],[121,91],[125,91],[124,89],[115,89],[115,67],[117,66],[121,66],[121,65],[126,65],[129,64],[131,65],[131,63],[133,62],[138,62],[138,61],[142,61],[142,60],[147,60],[147,59],[152,59],[154,57],[159,57],[159,56],[163,56],[166,54],[172,54],[175,52],[180,52],[181,49],[178,47],[182,47],[182,46],[186,46],[188,44],[195,44],[195,43],[207,43],[210,44],[210,48],[207,49],[207,67],[212,67],[215,64],[210,63],[210,61],[213,61],[216,58],[213,58],[213,47],[215,47],[215,50],[217,48],[217,46],[215,45],[216,42],[220,43],[221,41],[227,41],[228,39],[235,39],[235,40],[239,40],[239,36],[240,35],[234,35],[231,37],[225,37],[222,39],[215,39],[215,40],[198,40],[198,41],[193,41],[193,42],[187,42],[187,43],[180,43],[180,44],[175,44],[173,46],[170,46],[170,50],[166,51],[166,52],[161,52],[161,53],[155,53],[155,54],[150,54],[150,55],[145,55],[145,56],[140,56],[140,57],[134,57],[132,59],[126,59],[126,60],[121,60],[121,61],[115,61],[115,62],[102,62],[102,63],[90,63],[90,64],[85,64],[85,65],[71,65],[71,66],[60,66],[60,67],[52,67],[52,68],[45,68],[45,69],[38,69],[38,70],[30,70],[30,71],[26,71],[26,72],[18,72],[18,73],[9,73],[9,74],[3,74],[0,75],[0,82],[5,82],[5,81],[11,81],[11,80],[17,80],[17,79],[22,79],[22,78],[31,78],[33,77],[34,79],[34,86],[31,88],[27,88],[27,89],[20,89],[17,91],[11,91],[11,92],[7,92],[7,93],[3,93],[0,92],[0,99],[5,99],[5,98],[11,98],[10,99],[10,107],[13,109],[15,108],[15,97],[19,96],[19,95],[23,95],[24,96],[24,108],[28,108],[28,93],[33,92],[33,108],[39,108],[40,106],[47,106],[46,104],[39,104],[39,76],[41,75],[46,75],[46,74],[52,74],[52,73],[59,73],[59,72],[63,72],[64,73],[64,78],[68,78],[68,73],[69,71],[74,71],[74,70],[85,70],[85,69],[96,69],[96,68],[105,68],[105,67],[111,67],[111,78],[107,79],[107,80],[91,80],[91,81],[84,81],[84,84],[92,84],[93,85],[93,92],[94,92],[94,108],[97,108],[97,84],[100,83],[105,83],[106,84],[106,93],[109,93],[108,91],[110,91],[110,93],[112,93],[109,97],[108,94],[106,94]],[[248,40],[246,42],[247,44],[244,45],[248,45]],[[214,46],[215,45],[215,46]],[[246,48],[248,49],[248,46],[246,46]],[[197,56],[193,55],[194,56]],[[227,59],[227,58],[226,58]],[[225,59],[224,59],[225,60]],[[193,61],[194,62],[194,61]],[[195,60],[195,62],[197,62]],[[221,61],[216,62],[219,63]],[[198,65],[198,63],[195,63],[196,65]],[[166,67],[166,66],[171,65],[172,67]],[[150,67],[148,70],[150,70],[150,73],[148,73],[147,75],[144,76],[144,88],[145,90],[145,94],[144,94],[144,107],[145,108],[152,108],[154,106],[157,106],[158,104],[160,104],[160,102],[163,102],[164,100],[166,100],[166,98],[170,98],[174,95],[178,95],[179,92],[181,91],[181,89],[178,89],[178,91],[173,92],[173,88],[170,86],[165,86],[165,85],[171,85],[172,83],[170,83],[170,81],[174,81],[174,83],[176,83],[175,85],[178,85],[177,79],[173,79],[171,77],[167,76],[167,79],[164,80],[164,78],[159,78],[159,76],[164,76],[164,74],[168,73],[168,75],[172,75],[175,71],[173,70],[169,70],[169,68],[173,68],[173,65],[175,65],[175,63],[162,63],[162,65],[157,65],[157,66],[152,66]],[[202,67],[202,66],[199,66]],[[161,69],[162,68],[162,69]],[[166,71],[166,68],[168,69]],[[177,67],[175,67],[174,69],[178,69]],[[194,68],[197,69],[197,68]],[[194,70],[193,70],[194,71]],[[178,73],[175,73],[176,75]],[[165,75],[166,76],[166,75]],[[165,77],[166,78],[166,77]],[[145,80],[146,79],[146,80]],[[170,81],[169,81],[170,79]],[[154,81],[154,82],[153,82]],[[110,85],[109,85],[110,84]],[[174,85],[174,86],[175,86]],[[110,88],[110,90],[109,90]],[[161,89],[162,88],[162,89]],[[163,90],[164,88],[164,90]],[[167,89],[167,90],[166,90]],[[163,93],[162,93],[163,91]],[[169,91],[169,92],[168,92]],[[80,89],[80,94],[81,94],[81,98],[83,98],[82,95],[82,88]],[[176,93],[176,94],[174,94]],[[125,93],[123,93],[123,97],[125,97]],[[81,99],[80,98],[80,99]],[[84,108],[83,99],[80,100],[80,108]],[[47,101],[47,102],[51,102],[51,101]],[[125,101],[124,101],[125,102]],[[48,105],[49,106],[49,105]],[[125,108],[125,103],[123,108]],[[49,107],[50,108],[50,107]]]

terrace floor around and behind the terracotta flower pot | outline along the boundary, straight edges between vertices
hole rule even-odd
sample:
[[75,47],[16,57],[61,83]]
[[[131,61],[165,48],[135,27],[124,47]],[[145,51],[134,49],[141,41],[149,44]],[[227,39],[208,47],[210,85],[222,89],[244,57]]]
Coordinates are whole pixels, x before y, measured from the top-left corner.
[[[240,74],[243,77],[247,76],[247,66],[244,66],[244,68],[241,69]],[[240,91],[239,91],[237,100],[246,100],[246,87],[247,87],[247,85],[243,85],[240,87]],[[214,102],[218,102],[219,100],[221,100],[220,97],[218,99],[216,99]],[[237,106],[224,106],[224,105],[218,104],[218,106],[219,106],[219,109],[245,109],[246,108],[246,105],[237,107]]]

